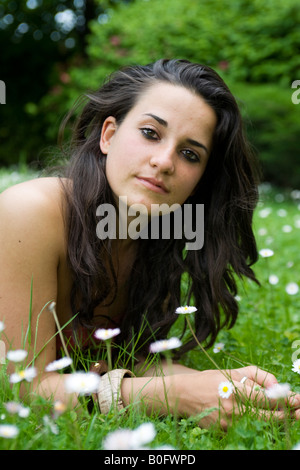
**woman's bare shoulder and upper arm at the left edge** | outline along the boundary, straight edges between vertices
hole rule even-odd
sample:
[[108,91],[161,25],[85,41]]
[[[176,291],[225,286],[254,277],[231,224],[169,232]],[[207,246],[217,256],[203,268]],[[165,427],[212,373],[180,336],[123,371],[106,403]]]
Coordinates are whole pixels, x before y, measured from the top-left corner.
[[[55,322],[45,306],[57,297],[62,247],[57,191],[55,179],[42,179],[0,195],[1,340],[6,351],[27,350],[27,364],[35,359],[39,371],[56,359]],[[8,366],[11,373],[14,364]]]

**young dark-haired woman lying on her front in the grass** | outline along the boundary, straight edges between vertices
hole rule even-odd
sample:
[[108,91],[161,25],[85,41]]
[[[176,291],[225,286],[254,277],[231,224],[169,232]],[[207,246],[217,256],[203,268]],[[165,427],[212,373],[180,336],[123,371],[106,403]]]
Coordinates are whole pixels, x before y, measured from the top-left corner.
[[[151,342],[166,338],[182,303],[194,302],[195,334],[206,346],[213,344],[220,328],[232,326],[237,317],[235,275],[256,280],[250,267],[257,259],[251,227],[256,163],[236,101],[222,79],[203,65],[160,60],[116,72],[87,99],[64,177],[29,181],[0,196],[0,319],[6,347],[24,347],[32,285],[25,347],[28,362],[36,356],[39,374],[33,386],[61,400],[67,399],[67,374],[45,372],[58,353],[56,323],[43,310],[47,303],[56,302],[60,325],[75,317],[73,331],[70,324],[63,330],[70,343],[75,338],[82,348],[91,348],[87,338],[96,327],[115,325],[121,330],[116,341],[129,349],[138,337],[135,350],[145,357]],[[121,200],[128,209],[125,226]],[[107,238],[97,230],[104,204],[118,216]],[[184,230],[181,237],[172,229],[169,237],[130,236],[129,211],[136,204],[144,208],[144,228],[157,205],[170,208],[170,221],[174,204],[183,213],[192,207],[189,223],[194,232],[202,224],[203,247],[186,250]],[[199,204],[205,208],[200,221]],[[188,278],[184,299],[183,275]],[[186,342],[178,357],[195,344],[193,338]],[[142,400],[149,410],[179,415],[220,408],[202,425],[221,415],[226,426],[246,399],[268,416],[265,395],[254,386],[277,382],[255,366],[197,371],[174,364],[171,374],[163,362],[160,375],[152,369],[140,376],[124,373],[117,378],[123,405]],[[235,385],[229,399],[218,394],[224,373]],[[98,398],[101,407],[101,390]],[[289,401],[299,417],[300,397],[291,395]],[[282,416],[280,410],[273,414]]]

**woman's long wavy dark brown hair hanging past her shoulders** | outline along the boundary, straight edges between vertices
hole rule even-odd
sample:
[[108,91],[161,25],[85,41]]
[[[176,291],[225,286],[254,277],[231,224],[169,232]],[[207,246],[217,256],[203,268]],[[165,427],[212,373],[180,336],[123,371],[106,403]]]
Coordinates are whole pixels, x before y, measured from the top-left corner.
[[[129,344],[138,334],[141,349],[148,350],[149,341],[166,338],[178,318],[176,308],[193,303],[198,309],[195,333],[209,347],[221,328],[230,328],[236,321],[237,278],[245,276],[257,282],[251,266],[257,260],[252,216],[259,171],[232,93],[214,70],[187,60],[161,59],[146,66],[126,67],[108,77],[98,91],[83,97],[84,108],[74,126],[65,172],[67,181],[72,182],[65,185],[65,222],[73,273],[71,307],[74,314],[79,312],[74,328],[92,327],[95,307],[107,299],[113,301],[118,288],[111,241],[96,235],[97,207],[115,204],[106,179],[106,158],[99,146],[103,122],[114,116],[120,124],[143,92],[157,82],[191,90],[217,116],[206,170],[188,199],[194,208],[204,204],[204,246],[185,251],[184,236],[137,241],[119,340]],[[177,356],[195,344],[188,338]]]

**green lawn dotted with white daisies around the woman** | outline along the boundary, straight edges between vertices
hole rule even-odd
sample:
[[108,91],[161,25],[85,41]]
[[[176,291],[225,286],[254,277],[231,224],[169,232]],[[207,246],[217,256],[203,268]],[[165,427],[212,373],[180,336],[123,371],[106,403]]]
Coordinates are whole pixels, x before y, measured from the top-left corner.
[[[14,171],[15,179],[34,176],[23,169],[19,177],[17,170]],[[8,171],[0,170],[0,190],[16,182]],[[290,282],[300,286],[300,200],[292,198],[289,191],[279,192],[268,186],[262,189],[255,231],[259,249],[270,248],[274,254],[270,258],[260,257],[255,266],[261,287],[248,281],[240,283],[237,323],[233,329],[222,331],[217,340],[225,344],[224,350],[218,354],[212,349],[208,352],[220,368],[255,364],[300,392],[300,376],[291,370],[292,355],[300,358],[300,292],[292,296],[285,290]],[[286,226],[289,228],[283,230]],[[268,281],[271,274],[278,277],[276,285]],[[200,349],[188,353],[183,363],[200,370],[214,367]],[[263,421],[248,411],[235,417],[228,430],[223,431],[218,425],[199,428],[197,417],[148,417],[137,406],[130,406],[120,415],[104,416],[96,412],[89,414],[83,405],[79,412],[66,411],[55,417],[53,402],[35,397],[28,405],[29,416],[21,418],[9,414],[5,408],[5,403],[16,398],[16,389],[8,384],[5,366],[0,373],[0,425],[15,424],[19,429],[13,439],[0,438],[0,449],[102,449],[105,437],[112,431],[135,429],[144,422],[155,426],[156,436],[149,444],[152,448],[168,445],[178,450],[287,450],[300,442],[299,421],[290,418],[285,423]]]

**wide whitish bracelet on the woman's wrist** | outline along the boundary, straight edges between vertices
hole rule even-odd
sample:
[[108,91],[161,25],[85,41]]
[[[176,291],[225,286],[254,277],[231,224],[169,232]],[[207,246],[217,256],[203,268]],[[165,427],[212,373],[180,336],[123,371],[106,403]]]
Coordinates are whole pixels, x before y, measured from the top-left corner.
[[120,411],[124,408],[121,397],[121,382],[125,376],[135,377],[128,369],[114,369],[101,376],[97,399],[100,412],[108,414],[111,408]]

